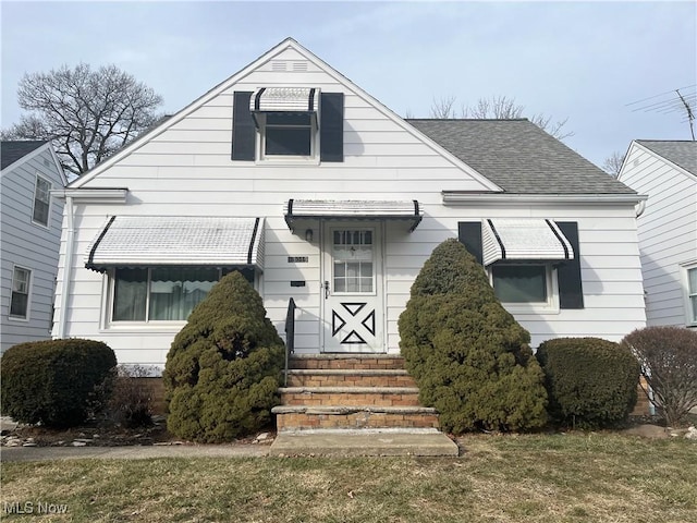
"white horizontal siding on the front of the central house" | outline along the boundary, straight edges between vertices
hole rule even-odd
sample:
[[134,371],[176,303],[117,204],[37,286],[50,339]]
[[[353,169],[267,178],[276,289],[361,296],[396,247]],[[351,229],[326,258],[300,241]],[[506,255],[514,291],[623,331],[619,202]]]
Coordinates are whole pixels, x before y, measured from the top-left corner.
[[[108,278],[85,269],[84,255],[112,215],[265,217],[265,268],[258,290],[267,314],[284,336],[289,299],[296,305],[295,350],[319,351],[322,272],[319,219],[289,230],[283,206],[291,198],[412,200],[418,199],[424,220],[414,232],[404,221],[382,226],[386,348],[399,353],[399,316],[409,297],[414,278],[432,250],[457,236],[457,222],[481,218],[543,218],[577,221],[585,308],[553,314],[516,314],[533,335],[533,344],[560,336],[600,336],[619,341],[645,325],[641,275],[633,205],[598,204],[511,206],[506,204],[443,206],[442,191],[486,192],[476,173],[462,169],[447,154],[372,106],[351,85],[325,73],[294,50],[283,51],[289,63],[303,63],[279,77],[276,60],[266,62],[231,87],[192,106],[168,129],[139,144],[129,155],[85,182],[86,188],[129,187],[136,205],[76,204],[80,226],[72,259],[72,294],[66,315],[68,337],[103,340],[120,363],[163,366],[181,326],[131,328],[108,321]],[[345,95],[344,161],[316,166],[231,160],[233,93],[259,86],[313,86]],[[358,222],[362,224],[371,222]],[[313,241],[305,240],[313,229]],[[63,241],[62,248],[64,250]],[[61,257],[64,260],[64,252]],[[290,258],[290,260],[289,260]],[[301,258],[302,262],[298,262]],[[64,262],[61,262],[61,267]],[[63,269],[59,271],[62,280]],[[305,282],[291,287],[291,282]],[[62,283],[62,282],[61,282]],[[60,285],[59,285],[60,288]],[[60,303],[60,296],[57,299]]]

